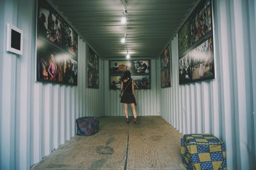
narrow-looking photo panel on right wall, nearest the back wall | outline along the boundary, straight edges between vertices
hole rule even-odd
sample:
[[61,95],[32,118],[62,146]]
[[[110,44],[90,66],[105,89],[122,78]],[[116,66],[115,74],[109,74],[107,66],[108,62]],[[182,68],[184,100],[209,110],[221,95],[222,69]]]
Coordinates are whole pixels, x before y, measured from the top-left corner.
[[170,45],[166,46],[163,53],[161,54],[161,88],[171,87],[172,74],[171,66],[172,60],[170,55]]

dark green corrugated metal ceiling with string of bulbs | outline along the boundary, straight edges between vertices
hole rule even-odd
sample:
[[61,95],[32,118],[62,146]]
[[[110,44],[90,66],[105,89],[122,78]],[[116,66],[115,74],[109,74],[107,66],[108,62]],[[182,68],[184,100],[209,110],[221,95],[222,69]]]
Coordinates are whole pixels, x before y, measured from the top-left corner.
[[158,58],[198,0],[49,0],[102,59]]

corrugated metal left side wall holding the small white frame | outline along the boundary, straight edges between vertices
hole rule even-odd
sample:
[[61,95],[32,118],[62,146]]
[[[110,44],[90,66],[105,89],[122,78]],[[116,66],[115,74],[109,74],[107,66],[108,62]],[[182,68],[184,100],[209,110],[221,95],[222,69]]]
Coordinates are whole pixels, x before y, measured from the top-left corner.
[[[1,1],[0,169],[30,169],[76,134],[76,118],[103,114],[102,91],[86,89],[86,43],[79,40],[78,85],[35,81],[36,1]],[[19,10],[18,10],[19,9]],[[6,52],[6,24],[24,31],[24,54]],[[100,61],[100,80],[103,80]]]

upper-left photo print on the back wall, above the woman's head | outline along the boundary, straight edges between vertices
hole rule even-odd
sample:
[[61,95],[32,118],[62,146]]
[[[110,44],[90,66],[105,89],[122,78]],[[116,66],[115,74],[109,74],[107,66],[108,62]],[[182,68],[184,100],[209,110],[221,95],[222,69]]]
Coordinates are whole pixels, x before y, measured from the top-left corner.
[[115,60],[109,62],[110,74],[123,74],[126,70],[131,71],[132,62],[129,60]]

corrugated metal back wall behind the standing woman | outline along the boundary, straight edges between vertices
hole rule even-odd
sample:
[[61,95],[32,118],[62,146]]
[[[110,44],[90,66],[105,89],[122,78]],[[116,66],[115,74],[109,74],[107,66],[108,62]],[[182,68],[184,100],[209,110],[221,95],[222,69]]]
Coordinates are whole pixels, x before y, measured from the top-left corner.
[[[124,59],[122,59],[124,60]],[[150,60],[151,89],[136,90],[136,109],[139,116],[160,115],[159,60]],[[106,116],[124,116],[124,109],[119,98],[120,90],[109,90],[109,61],[104,61],[104,114]],[[130,108],[130,107],[129,107]],[[132,116],[131,108],[129,115]]]

